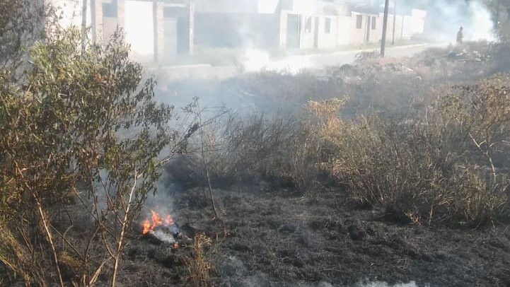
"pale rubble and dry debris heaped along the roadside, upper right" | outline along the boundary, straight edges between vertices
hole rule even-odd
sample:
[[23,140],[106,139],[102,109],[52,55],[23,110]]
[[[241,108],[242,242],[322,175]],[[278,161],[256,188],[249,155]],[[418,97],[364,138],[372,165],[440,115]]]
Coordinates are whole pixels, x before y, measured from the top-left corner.
[[369,79],[407,76],[422,81],[457,81],[492,74],[497,45],[472,42],[446,48],[431,48],[413,57],[381,58],[376,53],[357,55],[354,64],[328,68],[328,75],[336,82],[362,84]]

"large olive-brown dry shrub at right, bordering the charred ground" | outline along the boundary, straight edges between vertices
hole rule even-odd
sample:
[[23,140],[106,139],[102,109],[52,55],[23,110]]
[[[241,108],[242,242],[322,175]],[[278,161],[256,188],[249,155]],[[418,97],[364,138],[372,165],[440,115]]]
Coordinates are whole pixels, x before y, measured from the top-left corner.
[[[427,224],[480,225],[494,219],[506,203],[507,182],[493,182],[487,170],[467,165],[443,148],[441,134],[423,123],[391,124],[365,119],[342,130],[340,157],[332,172],[354,199],[405,219]],[[444,145],[443,145],[444,144]]]

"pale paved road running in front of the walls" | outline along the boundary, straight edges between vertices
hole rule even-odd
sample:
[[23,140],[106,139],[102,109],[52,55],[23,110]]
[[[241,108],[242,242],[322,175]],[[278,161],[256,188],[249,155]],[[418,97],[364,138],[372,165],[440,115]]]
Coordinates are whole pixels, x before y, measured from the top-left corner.
[[[419,44],[399,47],[388,47],[386,57],[409,57],[413,54],[424,51],[429,47],[441,45]],[[244,61],[239,66],[211,66],[209,64],[190,66],[166,66],[158,69],[151,69],[156,76],[164,80],[182,79],[210,79],[210,78],[231,78],[241,73],[267,70],[286,70],[291,73],[302,69],[320,69],[325,66],[340,66],[350,64],[354,61],[359,52],[378,51],[378,49],[366,49],[355,51],[335,52],[332,54],[308,54],[300,56],[285,57],[271,60],[268,54],[260,51],[248,52]]]

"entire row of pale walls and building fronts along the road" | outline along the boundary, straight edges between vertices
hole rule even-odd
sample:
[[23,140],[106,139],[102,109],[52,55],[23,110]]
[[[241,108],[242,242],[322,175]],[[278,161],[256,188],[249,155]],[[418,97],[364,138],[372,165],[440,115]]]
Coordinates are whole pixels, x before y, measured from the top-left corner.
[[[195,21],[190,21],[193,18],[190,7],[182,2],[175,6],[142,0],[42,1],[51,1],[62,8],[64,27],[76,25],[79,28],[83,1],[87,1],[86,23],[93,27],[93,39],[106,43],[118,25],[124,28],[135,54],[156,61],[171,59],[185,50],[189,52],[194,42],[203,47],[334,49],[379,42],[383,27],[382,13],[352,12],[349,15],[347,6],[340,2],[317,0],[195,0]],[[115,13],[108,5],[115,5]],[[356,28],[357,16],[361,16],[361,28]],[[426,12],[421,10],[413,10],[410,16],[397,16],[395,40],[422,33],[425,16]],[[367,22],[369,17],[370,23]],[[376,23],[375,28],[372,28],[372,21]],[[287,25],[293,25],[291,30],[295,37],[289,33]],[[392,37],[393,14],[390,13],[388,41]],[[289,41],[293,44],[289,45]]]

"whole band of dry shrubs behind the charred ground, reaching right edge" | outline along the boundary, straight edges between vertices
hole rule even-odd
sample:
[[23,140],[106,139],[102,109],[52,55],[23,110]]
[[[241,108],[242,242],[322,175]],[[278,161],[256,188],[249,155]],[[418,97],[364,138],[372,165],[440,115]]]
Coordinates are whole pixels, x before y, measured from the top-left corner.
[[456,87],[412,117],[345,120],[344,98],[309,101],[301,119],[231,118],[211,170],[238,179],[285,177],[302,189],[325,171],[361,204],[395,218],[487,223],[509,211],[508,82]]

